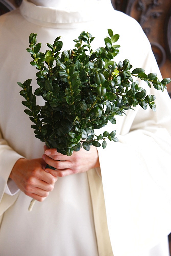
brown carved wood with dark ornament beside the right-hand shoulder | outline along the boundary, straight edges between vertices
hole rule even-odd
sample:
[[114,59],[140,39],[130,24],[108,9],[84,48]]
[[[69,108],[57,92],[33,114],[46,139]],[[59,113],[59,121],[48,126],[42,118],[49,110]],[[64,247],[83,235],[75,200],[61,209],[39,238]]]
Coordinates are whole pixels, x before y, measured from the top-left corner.
[[[163,77],[171,77],[171,1],[111,0],[115,9],[135,18],[147,35]],[[167,86],[171,96],[171,85]]]

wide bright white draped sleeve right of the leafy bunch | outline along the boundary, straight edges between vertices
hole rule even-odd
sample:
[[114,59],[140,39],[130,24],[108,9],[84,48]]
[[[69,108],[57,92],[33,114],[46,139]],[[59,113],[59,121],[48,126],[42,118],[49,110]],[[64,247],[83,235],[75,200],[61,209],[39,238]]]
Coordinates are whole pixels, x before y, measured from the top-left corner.
[[[161,80],[151,49],[144,60],[147,74],[156,72]],[[119,142],[108,140],[98,149],[114,255],[139,255],[139,248],[152,248],[171,231],[171,101],[166,90],[147,87],[147,94],[156,95],[156,112],[129,110],[119,117]]]

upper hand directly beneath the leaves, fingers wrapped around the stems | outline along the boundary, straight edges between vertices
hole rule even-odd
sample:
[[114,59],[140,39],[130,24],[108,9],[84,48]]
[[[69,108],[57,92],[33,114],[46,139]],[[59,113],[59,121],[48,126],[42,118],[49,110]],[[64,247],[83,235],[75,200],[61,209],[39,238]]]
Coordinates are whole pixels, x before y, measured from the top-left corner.
[[[44,146],[45,154],[42,158],[56,170],[46,169],[53,176],[64,177],[70,174],[87,172],[91,168],[100,167],[97,148],[91,146],[90,151],[83,148],[73,152],[71,156],[58,153],[56,148]],[[59,161],[60,160],[60,161]]]

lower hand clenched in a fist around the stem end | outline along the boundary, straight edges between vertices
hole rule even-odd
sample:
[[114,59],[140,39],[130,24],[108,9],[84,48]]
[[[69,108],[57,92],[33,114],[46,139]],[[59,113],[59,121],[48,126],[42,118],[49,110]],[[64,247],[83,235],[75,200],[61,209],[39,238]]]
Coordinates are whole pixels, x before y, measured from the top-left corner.
[[54,189],[57,177],[45,171],[42,158],[27,160],[20,158],[14,165],[10,178],[27,196],[43,201]]

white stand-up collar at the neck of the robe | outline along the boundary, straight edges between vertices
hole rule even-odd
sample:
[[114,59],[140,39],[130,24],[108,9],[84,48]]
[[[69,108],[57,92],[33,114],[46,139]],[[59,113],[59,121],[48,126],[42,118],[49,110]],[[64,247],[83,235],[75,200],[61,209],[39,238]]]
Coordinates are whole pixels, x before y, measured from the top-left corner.
[[[28,2],[28,0],[23,0],[20,5],[20,12],[26,20],[34,24],[65,29],[77,28],[82,22],[94,20],[94,13],[98,13],[98,10],[105,11],[104,9],[107,11],[107,8],[112,8],[110,0],[95,0],[92,1],[91,5],[82,4],[79,8],[76,7],[74,10],[38,6]],[[90,9],[92,9],[92,11],[90,11]],[[93,10],[95,10],[95,12]],[[101,18],[100,14],[99,17]]]

